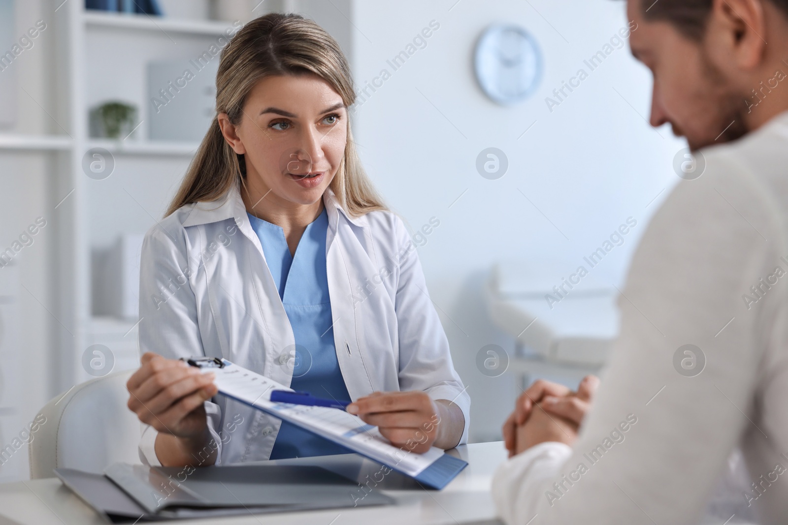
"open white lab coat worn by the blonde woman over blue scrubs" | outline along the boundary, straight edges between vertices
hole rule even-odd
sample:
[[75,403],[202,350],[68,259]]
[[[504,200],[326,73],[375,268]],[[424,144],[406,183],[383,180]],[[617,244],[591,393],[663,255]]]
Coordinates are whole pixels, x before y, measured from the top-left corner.
[[[383,211],[348,216],[330,189],[323,202],[334,344],[351,399],[423,390],[454,401],[465,443],[470,397],[402,220]],[[141,353],[225,357],[290,384],[295,338],[238,187],[220,201],[185,205],[148,231],[139,316]],[[269,458],[281,420],[221,394],[206,401],[206,412],[217,464]],[[158,464],[156,434],[143,425],[139,455],[147,464]]]

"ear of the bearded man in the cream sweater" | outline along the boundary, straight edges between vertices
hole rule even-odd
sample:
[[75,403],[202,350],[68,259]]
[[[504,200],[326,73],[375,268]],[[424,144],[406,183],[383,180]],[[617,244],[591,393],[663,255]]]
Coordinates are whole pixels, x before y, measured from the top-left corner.
[[[723,71],[752,71],[766,54],[765,0],[713,0],[704,43]],[[769,6],[771,7],[771,6]]]

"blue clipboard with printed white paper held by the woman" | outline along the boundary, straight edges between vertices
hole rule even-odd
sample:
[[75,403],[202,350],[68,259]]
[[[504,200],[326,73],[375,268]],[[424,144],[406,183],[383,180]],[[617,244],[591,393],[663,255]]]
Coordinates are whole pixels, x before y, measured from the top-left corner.
[[377,427],[342,410],[270,401],[271,390],[293,390],[229,360],[193,357],[186,361],[203,373],[213,372],[220,394],[351,449],[433,489],[444,488],[468,465],[434,446],[423,454],[392,446]]

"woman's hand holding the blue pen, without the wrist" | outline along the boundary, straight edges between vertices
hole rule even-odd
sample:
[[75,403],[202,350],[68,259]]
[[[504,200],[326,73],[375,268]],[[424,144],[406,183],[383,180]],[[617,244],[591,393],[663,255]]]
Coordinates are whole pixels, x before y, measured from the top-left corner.
[[348,405],[347,411],[398,446],[425,453],[438,438],[441,407],[425,392],[374,392]]

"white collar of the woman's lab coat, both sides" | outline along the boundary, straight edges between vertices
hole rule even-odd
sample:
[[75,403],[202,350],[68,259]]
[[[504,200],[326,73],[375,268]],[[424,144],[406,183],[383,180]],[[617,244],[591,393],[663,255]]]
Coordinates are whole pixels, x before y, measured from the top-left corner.
[[[336,225],[341,213],[348,222],[355,226],[366,227],[369,225],[366,215],[354,217],[346,212],[331,188],[325,189],[323,204],[329,216],[329,224]],[[191,210],[188,211],[188,216],[182,224],[184,227],[197,226],[232,218],[239,225],[247,219],[246,205],[243,204],[238,183],[233,185],[224,197],[216,201],[196,202],[191,205]]]

